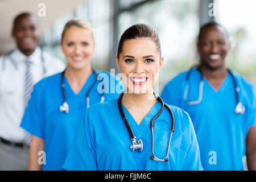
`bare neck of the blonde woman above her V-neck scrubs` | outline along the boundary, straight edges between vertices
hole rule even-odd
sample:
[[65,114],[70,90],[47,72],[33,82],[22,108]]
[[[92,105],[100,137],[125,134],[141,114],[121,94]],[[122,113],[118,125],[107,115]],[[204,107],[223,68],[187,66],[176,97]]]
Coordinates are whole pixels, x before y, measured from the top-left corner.
[[91,73],[92,67],[90,66],[84,69],[73,69],[67,65],[64,76],[67,78],[69,84],[82,87]]

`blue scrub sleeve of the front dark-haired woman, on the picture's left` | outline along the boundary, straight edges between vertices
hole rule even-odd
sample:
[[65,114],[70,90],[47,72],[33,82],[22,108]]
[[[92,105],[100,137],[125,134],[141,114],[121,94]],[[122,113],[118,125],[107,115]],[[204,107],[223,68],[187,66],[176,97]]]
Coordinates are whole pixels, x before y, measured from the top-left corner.
[[[89,110],[89,109],[88,109]],[[89,125],[88,110],[84,121],[79,125],[76,137],[69,149],[63,169],[68,171],[96,171],[97,160],[94,142],[94,129]]]

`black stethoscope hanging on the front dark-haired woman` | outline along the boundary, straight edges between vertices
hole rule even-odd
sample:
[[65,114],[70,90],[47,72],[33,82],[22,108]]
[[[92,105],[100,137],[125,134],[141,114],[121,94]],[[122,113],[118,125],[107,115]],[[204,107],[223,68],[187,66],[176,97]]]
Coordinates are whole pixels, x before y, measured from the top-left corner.
[[[161,109],[158,111],[158,113],[151,119],[151,122],[150,122],[150,128],[151,128],[151,135],[152,135],[152,148],[151,148],[151,152],[152,152],[152,155],[150,156],[150,159],[154,159],[154,160],[157,160],[157,161],[164,161],[164,162],[167,162],[168,161],[168,155],[169,155],[169,150],[170,150],[170,142],[171,142],[171,138],[172,138],[172,133],[174,132],[174,114],[172,113],[171,109],[166,105],[164,104],[162,98],[160,98],[159,96],[157,96],[155,93],[154,93],[154,96],[156,98],[156,100],[158,100],[161,104]],[[123,93],[121,93],[121,95],[119,96],[118,98],[118,109],[119,109],[119,112],[121,114],[121,117],[123,119],[123,122],[125,122],[125,126],[126,126],[126,129],[130,135],[130,138],[131,138],[131,144],[130,144],[130,150],[131,151],[135,151],[135,150],[138,150],[139,152],[142,152],[143,151],[143,143],[142,143],[142,140],[141,139],[138,139],[134,136],[134,133],[133,133],[133,129],[131,129],[131,126],[125,116],[125,113],[123,112],[123,107],[122,107],[122,97],[123,97]],[[155,155],[154,155],[154,134],[153,134],[153,130],[154,130],[154,121],[155,119],[162,113],[164,107],[166,107],[166,109],[169,111],[170,115],[171,115],[171,133],[170,133],[170,138],[168,140],[168,149],[167,149],[167,154],[166,156],[163,158],[163,159],[159,159],[157,158]]]

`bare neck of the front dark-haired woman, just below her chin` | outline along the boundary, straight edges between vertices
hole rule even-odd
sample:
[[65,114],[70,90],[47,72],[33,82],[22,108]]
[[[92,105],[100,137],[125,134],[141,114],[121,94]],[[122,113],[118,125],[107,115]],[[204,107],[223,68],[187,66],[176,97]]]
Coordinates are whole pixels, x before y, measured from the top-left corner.
[[127,109],[131,107],[140,109],[147,108],[148,106],[154,106],[155,103],[156,99],[152,92],[145,94],[125,93],[122,98],[122,104],[125,105]]

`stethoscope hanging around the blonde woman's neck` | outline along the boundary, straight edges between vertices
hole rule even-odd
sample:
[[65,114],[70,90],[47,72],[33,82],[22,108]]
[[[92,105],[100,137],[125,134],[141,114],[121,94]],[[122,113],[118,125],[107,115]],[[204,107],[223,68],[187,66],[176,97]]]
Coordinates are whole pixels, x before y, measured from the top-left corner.
[[[60,112],[69,113],[69,106],[68,106],[68,102],[67,102],[66,95],[65,95],[64,81],[63,81],[64,72],[65,72],[65,70],[61,73],[61,90],[62,90],[64,102],[63,102],[63,105],[60,106]],[[96,84],[97,78],[98,78],[98,73],[94,69],[93,69],[93,73],[95,74],[96,78],[95,78],[93,84],[88,89],[88,92],[86,93],[86,107],[87,108],[90,106],[90,97],[89,97],[90,90]],[[103,103],[104,99],[105,99],[105,97],[104,97],[104,92],[103,92],[103,93],[101,93],[101,102],[100,103]]]

